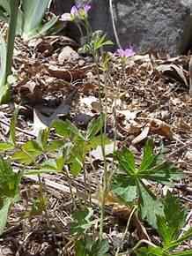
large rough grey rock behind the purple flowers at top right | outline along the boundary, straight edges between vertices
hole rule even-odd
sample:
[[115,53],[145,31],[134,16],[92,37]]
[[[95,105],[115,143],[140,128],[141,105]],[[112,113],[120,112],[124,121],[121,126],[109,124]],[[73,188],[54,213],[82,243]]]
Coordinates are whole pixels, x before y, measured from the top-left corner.
[[[63,12],[83,0],[55,0],[62,3]],[[64,4],[66,3],[66,4]],[[101,29],[115,42],[109,0],[91,0],[90,21],[93,30]],[[114,23],[123,48],[133,46],[138,52],[150,49],[164,51],[171,56],[185,53],[191,47],[192,0],[112,0]],[[58,8],[61,13],[61,6]],[[187,27],[187,28],[186,28]],[[187,34],[187,35],[186,35]]]

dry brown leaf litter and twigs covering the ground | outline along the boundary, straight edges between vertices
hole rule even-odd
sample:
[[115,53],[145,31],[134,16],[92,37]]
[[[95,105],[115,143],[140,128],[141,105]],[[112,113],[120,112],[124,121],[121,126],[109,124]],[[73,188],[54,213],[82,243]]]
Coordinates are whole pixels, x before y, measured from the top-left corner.
[[[78,55],[75,41],[65,36],[44,36],[28,42],[17,39],[16,46],[18,50],[13,58],[13,67],[17,79],[12,87],[12,98],[18,105],[17,136],[21,144],[35,138],[41,128],[48,127],[55,119],[69,119],[84,130],[93,117],[98,117],[100,105],[95,64],[91,56]],[[172,192],[189,209],[186,221],[191,227],[192,98],[188,94],[189,60],[189,56],[171,58],[150,52],[129,57],[122,74],[118,58],[113,57],[111,79],[105,81],[101,72],[100,79],[103,89],[106,84],[107,135],[112,139],[112,104],[120,87],[116,113],[118,147],[131,148],[136,153],[136,159],[139,159],[146,139],[155,140],[156,150],[163,141],[166,158],[183,169],[186,177],[174,185]],[[13,102],[0,107],[0,139],[4,142],[9,139],[12,110]],[[108,145],[111,162],[112,146]],[[100,147],[92,151],[92,157],[92,168],[89,158],[85,162],[87,187],[82,176],[71,178],[69,173],[41,175],[42,189],[48,198],[43,215],[33,208],[33,199],[38,199],[40,195],[37,186],[40,180],[36,176],[23,179],[21,200],[12,208],[7,227],[0,238],[2,255],[74,255],[69,233],[73,208],[71,192],[77,193],[79,198],[85,198],[87,191],[95,194],[92,199],[95,215],[98,215],[100,206],[100,197],[97,196],[102,173]],[[17,162],[12,165],[15,169],[19,168]],[[147,184],[159,194],[165,192],[166,184]],[[146,193],[146,197],[149,196]],[[112,194],[107,196],[106,212],[105,232],[113,251],[113,244],[117,243],[119,237],[121,240],[130,209],[118,203]],[[166,225],[165,220],[161,222]],[[162,233],[161,236],[166,234]],[[159,242],[157,234],[150,227],[145,228],[135,215],[128,242],[123,246],[134,245],[143,238]],[[183,246],[191,248],[191,241]]]

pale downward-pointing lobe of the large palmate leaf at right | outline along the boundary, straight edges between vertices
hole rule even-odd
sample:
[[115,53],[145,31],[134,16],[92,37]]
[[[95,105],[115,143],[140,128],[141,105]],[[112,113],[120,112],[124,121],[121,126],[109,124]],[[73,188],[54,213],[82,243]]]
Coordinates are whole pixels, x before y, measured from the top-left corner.
[[137,189],[142,219],[145,219],[153,228],[157,229],[157,215],[164,215],[163,203],[155,197],[143,182],[137,181]]

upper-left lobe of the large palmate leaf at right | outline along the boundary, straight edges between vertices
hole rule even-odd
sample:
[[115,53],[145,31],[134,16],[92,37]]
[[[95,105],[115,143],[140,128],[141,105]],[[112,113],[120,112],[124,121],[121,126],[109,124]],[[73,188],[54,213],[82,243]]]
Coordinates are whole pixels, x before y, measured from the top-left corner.
[[114,155],[119,162],[120,168],[125,170],[130,176],[135,176],[137,169],[134,154],[125,147],[122,151],[117,151]]

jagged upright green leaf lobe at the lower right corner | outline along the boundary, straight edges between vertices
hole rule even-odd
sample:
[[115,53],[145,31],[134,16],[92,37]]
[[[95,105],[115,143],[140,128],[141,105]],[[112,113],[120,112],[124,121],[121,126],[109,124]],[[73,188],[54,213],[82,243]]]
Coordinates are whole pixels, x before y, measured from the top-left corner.
[[179,237],[185,218],[185,209],[182,209],[179,200],[168,192],[164,201],[164,216],[157,217],[158,232],[164,246],[169,247],[171,242]]

